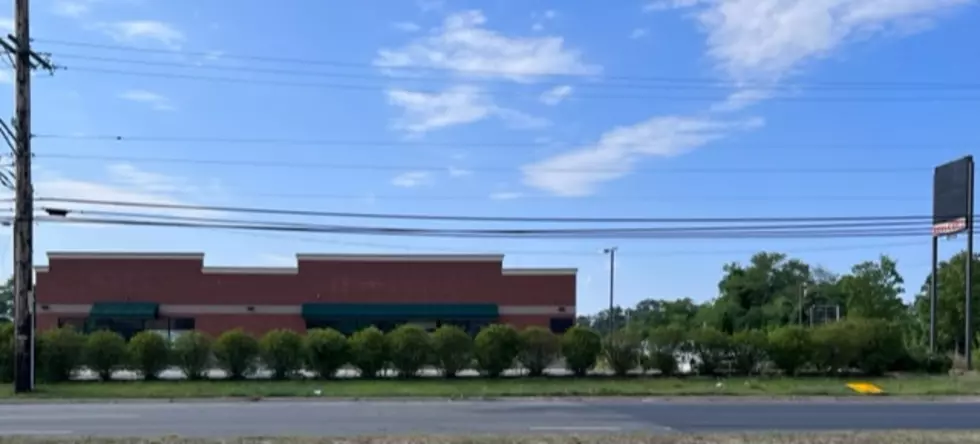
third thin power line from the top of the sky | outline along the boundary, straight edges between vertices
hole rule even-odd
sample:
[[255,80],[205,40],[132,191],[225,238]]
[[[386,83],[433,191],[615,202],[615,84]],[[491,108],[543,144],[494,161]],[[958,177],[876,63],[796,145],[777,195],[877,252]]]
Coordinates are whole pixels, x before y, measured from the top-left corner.
[[[276,145],[281,146],[317,146],[317,147],[370,147],[370,148],[574,148],[588,145],[588,143],[547,143],[547,142],[406,142],[382,141],[382,140],[339,140],[339,139],[295,139],[287,137],[205,137],[205,136],[142,136],[142,135],[112,135],[112,134],[54,134],[54,133],[35,133],[35,139],[48,140],[84,140],[101,141],[115,143],[164,143],[164,144],[183,144],[183,143],[202,143],[202,144],[229,144],[229,145]],[[968,149],[976,145],[973,142],[965,141],[960,145]],[[647,143],[625,144],[626,147],[642,148],[649,146]],[[752,145],[756,147],[758,145]],[[950,144],[930,143],[903,143],[903,144],[882,144],[882,143],[854,143],[854,144],[810,144],[793,145],[789,147],[785,144],[778,145],[780,149],[799,148],[799,149],[840,149],[847,151],[859,150],[862,148],[879,148],[894,150],[935,150],[950,148]]]

